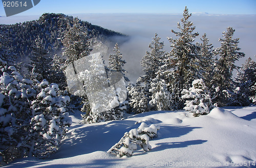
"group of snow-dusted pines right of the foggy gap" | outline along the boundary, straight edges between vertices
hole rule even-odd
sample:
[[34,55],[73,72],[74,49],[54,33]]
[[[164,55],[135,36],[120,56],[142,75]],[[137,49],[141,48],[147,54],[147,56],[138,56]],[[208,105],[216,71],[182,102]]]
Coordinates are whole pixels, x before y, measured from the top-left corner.
[[[214,48],[206,34],[195,43],[191,14],[185,8],[177,38],[168,38],[170,52],[163,51],[164,43],[156,34],[150,52],[142,58],[145,75],[130,85],[130,105],[135,113],[151,110],[185,109],[195,116],[207,114],[214,107],[247,106],[256,103],[256,63],[247,59],[242,68],[234,64],[245,56],[239,52],[239,38],[233,39],[234,29],[228,27]],[[239,70],[232,79],[232,71]]]

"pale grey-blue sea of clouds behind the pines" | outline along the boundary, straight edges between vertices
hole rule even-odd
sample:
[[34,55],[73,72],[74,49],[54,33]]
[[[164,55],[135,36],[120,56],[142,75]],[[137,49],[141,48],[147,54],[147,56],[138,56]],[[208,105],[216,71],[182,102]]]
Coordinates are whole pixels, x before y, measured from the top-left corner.
[[[131,36],[130,40],[122,43],[120,47],[127,62],[125,68],[129,71],[132,81],[143,75],[140,60],[145,55],[145,51],[149,51],[148,44],[155,33],[158,33],[161,41],[164,41],[165,51],[169,52],[171,48],[166,37],[176,38],[171,30],[179,31],[177,22],[182,18],[181,14],[79,14],[76,16],[94,25]],[[232,27],[236,30],[233,38],[240,38],[239,47],[241,52],[246,54],[246,57],[237,61],[236,65],[241,66],[248,57],[256,61],[254,57],[256,41],[253,38],[256,37],[255,15],[194,14],[190,20],[196,26],[195,31],[200,34],[195,42],[201,42],[200,38],[206,33],[214,47],[221,45],[218,40],[222,38],[222,32],[226,31],[227,27]]]

